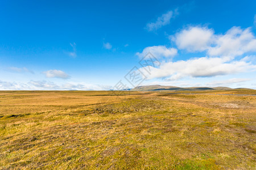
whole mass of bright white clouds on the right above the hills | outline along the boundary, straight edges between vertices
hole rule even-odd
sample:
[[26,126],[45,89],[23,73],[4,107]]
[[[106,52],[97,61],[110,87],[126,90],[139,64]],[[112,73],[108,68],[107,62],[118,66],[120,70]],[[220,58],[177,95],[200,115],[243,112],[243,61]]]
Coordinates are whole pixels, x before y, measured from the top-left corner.
[[164,57],[175,56],[177,49],[148,46],[142,53],[137,53],[137,56],[143,57],[151,52],[163,61],[159,67],[151,67],[150,73],[145,71],[146,67],[141,68],[147,79],[164,78],[173,81],[185,77],[212,77],[256,70],[256,65],[251,62],[255,56],[243,56],[256,52],[256,39],[250,27],[232,27],[224,34],[215,34],[213,29],[207,27],[188,27],[169,36],[169,39],[175,42],[177,49],[187,53],[205,52],[205,57],[167,62]]

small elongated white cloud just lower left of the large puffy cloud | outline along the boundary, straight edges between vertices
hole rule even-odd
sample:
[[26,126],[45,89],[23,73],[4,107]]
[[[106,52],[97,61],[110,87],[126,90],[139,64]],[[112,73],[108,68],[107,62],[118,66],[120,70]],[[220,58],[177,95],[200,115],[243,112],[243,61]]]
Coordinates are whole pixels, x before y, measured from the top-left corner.
[[177,54],[177,49],[175,49],[175,48],[166,48],[166,46],[163,46],[163,45],[148,46],[148,47],[143,49],[142,53],[136,53],[136,55],[143,58],[149,52],[156,58],[173,57]]

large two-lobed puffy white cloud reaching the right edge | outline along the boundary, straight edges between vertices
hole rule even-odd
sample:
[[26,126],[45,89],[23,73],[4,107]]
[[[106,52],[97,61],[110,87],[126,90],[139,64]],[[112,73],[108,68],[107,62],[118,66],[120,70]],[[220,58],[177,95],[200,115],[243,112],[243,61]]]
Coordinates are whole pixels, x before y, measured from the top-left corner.
[[189,27],[170,36],[179,49],[188,52],[207,51],[209,56],[236,57],[256,52],[256,39],[250,28],[230,28],[224,35],[214,35],[207,27]]

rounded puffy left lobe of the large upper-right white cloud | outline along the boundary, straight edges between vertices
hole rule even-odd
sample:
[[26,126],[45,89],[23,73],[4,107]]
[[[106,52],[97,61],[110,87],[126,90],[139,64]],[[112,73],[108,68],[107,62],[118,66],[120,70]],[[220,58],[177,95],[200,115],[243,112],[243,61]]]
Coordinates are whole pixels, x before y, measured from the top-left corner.
[[206,27],[189,27],[170,36],[172,41],[176,42],[177,48],[186,49],[189,52],[203,51],[209,48],[213,42],[214,32]]

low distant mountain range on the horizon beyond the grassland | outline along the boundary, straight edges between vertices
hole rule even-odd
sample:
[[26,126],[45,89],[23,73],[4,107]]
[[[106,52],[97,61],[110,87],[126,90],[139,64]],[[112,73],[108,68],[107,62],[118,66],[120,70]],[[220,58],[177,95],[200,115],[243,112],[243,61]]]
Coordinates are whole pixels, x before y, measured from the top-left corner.
[[176,87],[176,86],[161,86],[161,85],[152,85],[152,86],[138,86],[131,91],[205,91],[205,90],[251,90],[250,88],[229,88],[229,87]]

